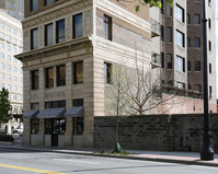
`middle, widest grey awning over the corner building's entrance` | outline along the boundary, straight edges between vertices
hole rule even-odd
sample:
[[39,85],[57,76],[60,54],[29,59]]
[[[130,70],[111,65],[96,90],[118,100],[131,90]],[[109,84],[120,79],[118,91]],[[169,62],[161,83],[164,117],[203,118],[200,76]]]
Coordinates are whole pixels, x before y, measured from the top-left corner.
[[38,113],[37,118],[59,118],[62,117],[65,114],[66,108],[46,108]]

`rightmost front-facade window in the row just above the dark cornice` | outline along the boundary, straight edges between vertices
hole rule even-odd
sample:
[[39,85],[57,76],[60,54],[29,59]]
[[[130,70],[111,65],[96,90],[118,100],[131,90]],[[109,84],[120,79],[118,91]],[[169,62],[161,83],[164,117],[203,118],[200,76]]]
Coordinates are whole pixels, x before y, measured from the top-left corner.
[[72,37],[78,38],[82,36],[82,13],[72,16],[73,33]]

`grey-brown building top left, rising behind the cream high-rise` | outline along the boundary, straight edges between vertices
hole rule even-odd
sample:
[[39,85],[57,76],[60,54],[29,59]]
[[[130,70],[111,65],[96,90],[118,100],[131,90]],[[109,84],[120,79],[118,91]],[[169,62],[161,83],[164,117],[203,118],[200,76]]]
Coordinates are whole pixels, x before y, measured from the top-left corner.
[[22,21],[24,18],[24,0],[0,0],[0,9],[7,10],[7,12]]

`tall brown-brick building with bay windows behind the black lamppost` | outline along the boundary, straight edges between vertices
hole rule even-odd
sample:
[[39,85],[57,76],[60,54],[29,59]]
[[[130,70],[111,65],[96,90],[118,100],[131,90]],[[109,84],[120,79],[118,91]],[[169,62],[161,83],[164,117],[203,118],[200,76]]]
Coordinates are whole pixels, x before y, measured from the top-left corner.
[[[152,61],[163,68],[162,82],[186,90],[188,96],[193,92],[204,91],[204,40],[203,40],[203,1],[175,0],[173,7],[164,3],[164,8],[151,8],[151,28],[160,28],[160,34],[153,35],[151,43]],[[208,94],[209,111],[217,113],[216,107],[216,15],[215,3],[206,4],[208,31]],[[153,26],[153,27],[152,27]],[[156,32],[157,33],[157,32]],[[159,37],[160,36],[160,37]],[[179,109],[171,109],[173,114],[203,113],[204,101],[198,96],[184,98]],[[182,111],[181,111],[182,109]],[[160,109],[161,113],[162,111]],[[171,113],[170,112],[170,113]]]

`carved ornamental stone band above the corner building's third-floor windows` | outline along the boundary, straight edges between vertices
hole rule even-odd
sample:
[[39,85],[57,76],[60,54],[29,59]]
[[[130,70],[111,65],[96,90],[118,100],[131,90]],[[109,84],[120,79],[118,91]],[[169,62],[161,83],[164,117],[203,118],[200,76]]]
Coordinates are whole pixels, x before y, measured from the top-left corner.
[[46,23],[48,21],[58,19],[59,16],[65,16],[71,12],[84,9],[93,3],[93,0],[76,0],[69,3],[64,3],[62,5],[55,7],[53,9],[46,10],[45,12],[37,13],[22,21],[23,28],[32,27],[41,23]]

